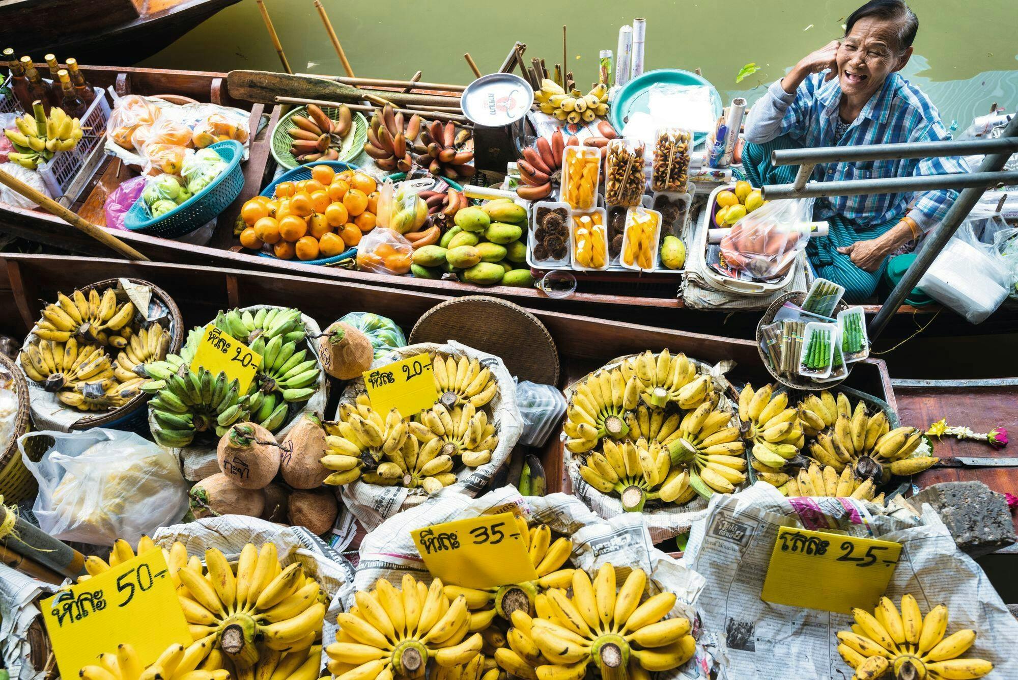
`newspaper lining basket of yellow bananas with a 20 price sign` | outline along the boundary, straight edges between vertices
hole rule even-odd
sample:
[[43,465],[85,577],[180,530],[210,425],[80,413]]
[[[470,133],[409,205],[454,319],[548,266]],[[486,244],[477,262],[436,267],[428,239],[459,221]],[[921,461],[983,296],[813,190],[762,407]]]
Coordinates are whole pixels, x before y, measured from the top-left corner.
[[[495,432],[499,437],[498,446],[492,451],[492,459],[474,468],[465,467],[456,473],[458,481],[446,487],[444,493],[465,494],[467,497],[474,497],[492,480],[495,472],[508,459],[512,448],[516,446],[520,434],[523,432],[523,421],[516,406],[516,385],[508,369],[499,357],[478,351],[472,347],[462,345],[455,340],[450,340],[444,345],[434,343],[421,343],[408,345],[406,347],[394,348],[384,356],[372,362],[372,369],[399,361],[420,353],[429,353],[432,356],[436,352],[451,356],[457,361],[461,357],[469,360],[477,359],[482,367],[487,367],[492,372],[492,376],[498,383],[499,389],[495,397],[488,403],[491,408],[491,418],[489,421],[495,426]],[[341,402],[353,402],[357,395],[364,392],[364,381],[362,378],[350,381],[346,389],[343,390]],[[337,406],[334,418],[339,417]],[[342,487],[343,501],[346,508],[357,518],[363,527],[371,531],[381,524],[385,519],[395,515],[401,510],[412,508],[428,499],[428,494],[423,489],[405,489],[403,487],[380,487],[370,485],[359,479]]]

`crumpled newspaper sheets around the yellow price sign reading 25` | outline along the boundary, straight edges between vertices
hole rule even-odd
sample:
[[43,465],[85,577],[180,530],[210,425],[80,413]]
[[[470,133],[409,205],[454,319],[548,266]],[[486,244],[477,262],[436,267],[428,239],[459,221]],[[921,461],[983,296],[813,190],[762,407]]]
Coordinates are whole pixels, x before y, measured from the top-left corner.
[[905,507],[885,509],[844,498],[808,501],[793,505],[761,481],[735,496],[716,495],[706,517],[693,524],[683,564],[711,583],[697,603],[700,641],[725,660],[722,680],[852,677],[835,636],[850,628],[851,616],[760,600],[780,526],[837,526],[849,535],[900,543],[887,597],[897,604],[909,592],[923,614],[947,605],[948,634],[963,628],[978,633],[962,656],[992,662],[994,677],[1018,677],[1018,657],[1012,654],[1018,621],[928,505],[917,517]]

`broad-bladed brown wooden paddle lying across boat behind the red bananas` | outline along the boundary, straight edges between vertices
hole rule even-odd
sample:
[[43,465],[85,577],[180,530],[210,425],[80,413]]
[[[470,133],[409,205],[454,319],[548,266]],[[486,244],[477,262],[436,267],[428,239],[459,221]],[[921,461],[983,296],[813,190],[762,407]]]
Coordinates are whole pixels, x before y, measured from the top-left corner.
[[230,97],[260,104],[274,104],[277,97],[321,99],[353,104],[363,100],[379,104],[385,100],[396,106],[458,105],[456,97],[419,95],[390,90],[361,90],[315,75],[288,75],[272,71],[230,71],[226,75]]

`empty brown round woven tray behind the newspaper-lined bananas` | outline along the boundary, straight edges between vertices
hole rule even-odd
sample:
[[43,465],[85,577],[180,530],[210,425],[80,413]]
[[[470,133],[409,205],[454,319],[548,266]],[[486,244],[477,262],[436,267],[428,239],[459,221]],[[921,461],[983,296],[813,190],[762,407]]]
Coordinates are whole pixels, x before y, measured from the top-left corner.
[[407,340],[455,340],[501,357],[521,381],[559,382],[559,351],[548,329],[523,307],[497,297],[468,295],[438,304],[417,321]]

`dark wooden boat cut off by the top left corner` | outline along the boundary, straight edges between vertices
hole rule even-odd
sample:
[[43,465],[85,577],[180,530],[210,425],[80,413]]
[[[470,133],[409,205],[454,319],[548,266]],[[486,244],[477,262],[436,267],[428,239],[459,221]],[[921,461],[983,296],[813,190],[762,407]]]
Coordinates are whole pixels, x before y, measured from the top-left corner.
[[131,64],[159,52],[239,0],[8,0],[0,45],[34,57]]

